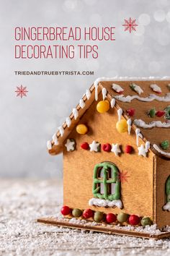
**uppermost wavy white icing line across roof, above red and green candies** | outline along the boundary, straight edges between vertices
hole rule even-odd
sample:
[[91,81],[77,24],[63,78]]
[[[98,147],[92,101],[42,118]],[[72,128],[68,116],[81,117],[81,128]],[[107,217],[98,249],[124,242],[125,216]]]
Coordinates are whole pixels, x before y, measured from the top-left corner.
[[131,102],[133,100],[145,101],[145,102],[150,102],[150,101],[154,101],[154,100],[162,101],[162,102],[169,102],[170,101],[170,93],[166,93],[166,95],[164,97],[161,97],[161,96],[158,96],[155,94],[150,94],[146,98],[142,98],[138,95],[132,95],[132,96],[117,95],[117,96],[114,96],[114,98],[116,98],[118,101],[122,101],[122,102]]

